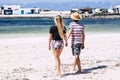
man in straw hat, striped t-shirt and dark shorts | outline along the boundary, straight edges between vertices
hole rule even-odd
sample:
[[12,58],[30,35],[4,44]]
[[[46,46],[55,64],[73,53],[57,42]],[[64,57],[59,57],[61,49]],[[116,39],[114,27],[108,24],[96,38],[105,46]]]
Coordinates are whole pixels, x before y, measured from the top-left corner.
[[79,22],[82,19],[82,16],[77,13],[71,13],[70,18],[73,20],[70,23],[70,29],[68,32],[68,39],[71,36],[71,48],[72,54],[75,57],[73,63],[73,70],[75,71],[76,66],[78,66],[78,72],[81,72],[81,62],[80,62],[80,53],[81,49],[84,49],[84,41],[85,41],[85,32],[84,26]]

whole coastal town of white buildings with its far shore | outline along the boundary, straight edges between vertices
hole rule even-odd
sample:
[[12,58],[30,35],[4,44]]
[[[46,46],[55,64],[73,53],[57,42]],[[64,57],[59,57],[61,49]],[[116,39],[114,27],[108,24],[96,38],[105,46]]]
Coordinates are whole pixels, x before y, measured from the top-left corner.
[[120,18],[120,5],[110,8],[73,8],[71,10],[43,10],[41,8],[22,8],[21,5],[2,5],[0,18],[21,18],[21,17],[47,17],[62,15],[69,18],[71,12],[79,12],[83,18]]

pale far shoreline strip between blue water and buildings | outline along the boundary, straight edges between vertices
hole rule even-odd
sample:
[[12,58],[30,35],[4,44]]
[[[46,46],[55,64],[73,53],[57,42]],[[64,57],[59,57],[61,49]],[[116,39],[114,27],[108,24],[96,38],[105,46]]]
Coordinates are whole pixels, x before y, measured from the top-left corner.
[[[2,18],[53,18],[56,15],[61,15],[63,18],[69,18],[69,14],[24,14],[24,15],[0,15]],[[120,19],[120,14],[81,14],[83,18],[91,19]]]

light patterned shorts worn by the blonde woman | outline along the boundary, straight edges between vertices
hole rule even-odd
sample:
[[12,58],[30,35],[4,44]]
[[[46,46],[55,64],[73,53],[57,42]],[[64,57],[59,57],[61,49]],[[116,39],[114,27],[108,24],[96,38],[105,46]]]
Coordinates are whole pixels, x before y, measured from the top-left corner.
[[52,40],[52,49],[63,49],[63,40]]

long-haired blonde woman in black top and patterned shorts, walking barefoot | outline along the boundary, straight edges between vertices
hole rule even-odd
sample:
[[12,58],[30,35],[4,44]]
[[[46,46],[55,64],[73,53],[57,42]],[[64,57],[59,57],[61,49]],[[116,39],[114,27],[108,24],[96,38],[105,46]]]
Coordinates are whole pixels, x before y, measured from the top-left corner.
[[66,28],[63,24],[63,19],[60,15],[57,15],[54,18],[55,25],[50,27],[49,30],[49,50],[53,51],[53,55],[55,58],[56,63],[56,69],[57,69],[57,75],[61,76],[61,70],[60,70],[60,55],[64,47],[64,41],[65,40],[65,46],[67,46],[67,37],[66,37]]

